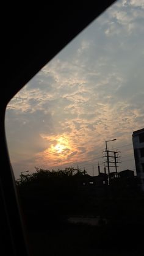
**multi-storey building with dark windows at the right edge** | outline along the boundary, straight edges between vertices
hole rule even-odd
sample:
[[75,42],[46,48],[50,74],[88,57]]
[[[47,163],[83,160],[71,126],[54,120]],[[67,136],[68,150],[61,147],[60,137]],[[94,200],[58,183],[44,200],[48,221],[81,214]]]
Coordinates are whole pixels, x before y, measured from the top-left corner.
[[140,186],[144,191],[144,128],[133,132],[132,142],[137,177],[140,178]]

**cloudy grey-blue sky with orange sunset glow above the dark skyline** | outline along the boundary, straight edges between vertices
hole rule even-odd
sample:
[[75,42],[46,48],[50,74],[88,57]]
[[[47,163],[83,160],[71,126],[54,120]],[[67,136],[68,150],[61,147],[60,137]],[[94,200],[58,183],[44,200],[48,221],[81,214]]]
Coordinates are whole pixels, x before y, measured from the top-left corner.
[[107,146],[120,151],[118,171],[135,170],[132,133],[144,126],[143,70],[144,0],[117,1],[7,105],[15,177],[35,167],[77,165],[98,175],[105,141],[115,138]]

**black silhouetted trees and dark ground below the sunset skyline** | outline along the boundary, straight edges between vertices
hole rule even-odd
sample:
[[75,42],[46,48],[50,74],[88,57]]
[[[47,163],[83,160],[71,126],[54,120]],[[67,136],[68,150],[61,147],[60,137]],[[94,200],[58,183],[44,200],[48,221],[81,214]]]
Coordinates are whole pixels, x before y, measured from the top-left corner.
[[[142,192],[134,183],[85,186],[84,175],[38,168],[21,175],[17,190],[32,255],[143,255]],[[91,225],[69,222],[76,217]]]

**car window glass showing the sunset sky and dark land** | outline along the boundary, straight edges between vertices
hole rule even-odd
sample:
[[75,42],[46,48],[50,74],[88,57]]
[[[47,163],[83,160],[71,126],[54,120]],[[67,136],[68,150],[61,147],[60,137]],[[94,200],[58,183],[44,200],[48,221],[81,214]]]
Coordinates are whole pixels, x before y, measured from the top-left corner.
[[136,175],[132,133],[144,123],[143,12],[143,0],[116,1],[7,106],[7,145],[34,255],[143,244],[134,236],[144,225],[137,177],[121,182],[113,175],[109,185],[104,175]]

